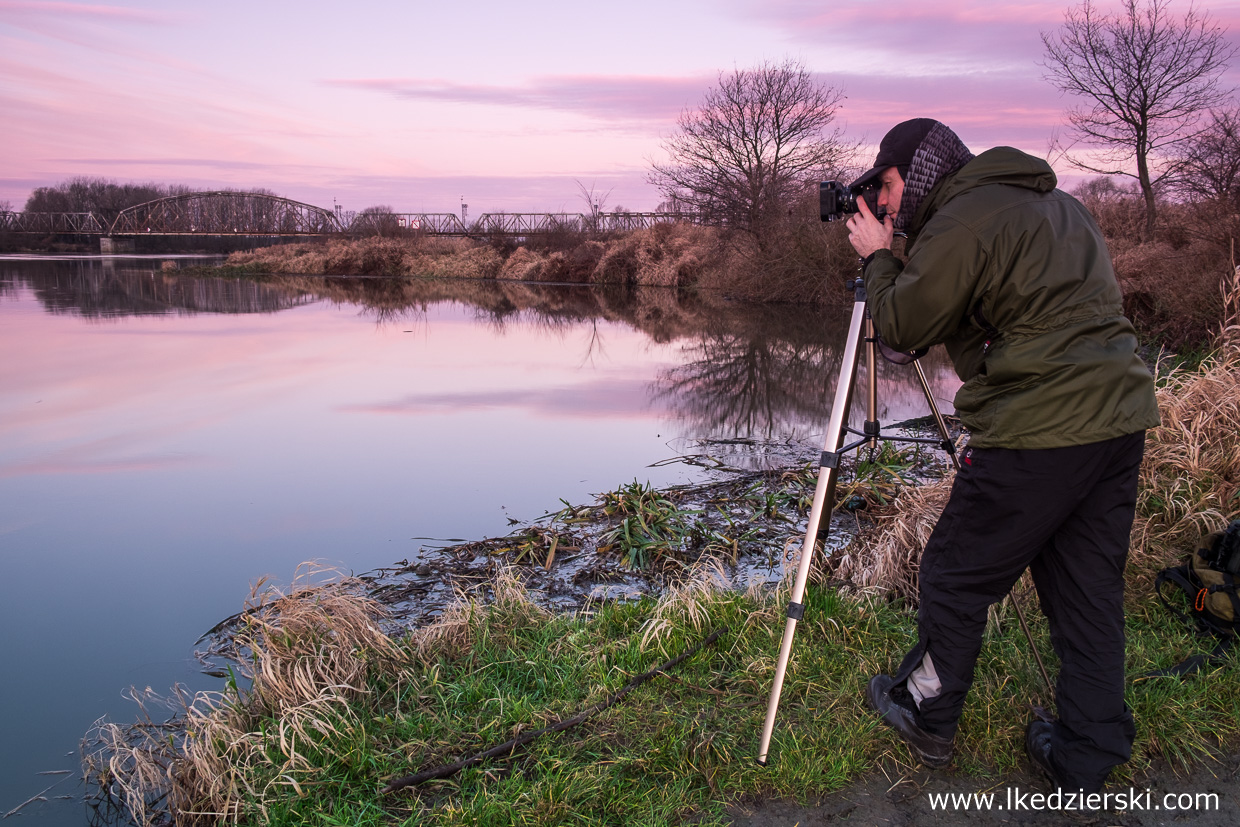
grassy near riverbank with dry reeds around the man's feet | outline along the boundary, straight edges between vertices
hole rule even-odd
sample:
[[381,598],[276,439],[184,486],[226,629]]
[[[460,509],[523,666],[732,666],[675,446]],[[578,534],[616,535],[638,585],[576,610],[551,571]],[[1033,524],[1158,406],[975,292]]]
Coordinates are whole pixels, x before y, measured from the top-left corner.
[[[1200,372],[1163,377],[1161,383],[1163,425],[1149,436],[1127,595],[1133,676],[1128,703],[1138,732],[1133,760],[1112,779],[1114,789],[1216,791],[1224,796],[1220,806],[1231,807],[1215,811],[1228,820],[1216,823],[1234,821],[1234,772],[1231,786],[1220,779],[1209,789],[1192,789],[1179,779],[1205,785],[1203,767],[1235,766],[1229,756],[1240,745],[1236,658],[1184,679],[1140,676],[1204,647],[1158,605],[1149,584],[1153,573],[1177,562],[1202,528],[1235,516],[1238,399],[1240,355],[1234,350]],[[780,474],[763,475],[763,487],[753,490],[760,496],[746,505],[749,515],[740,520],[733,513],[738,497],[732,492],[717,503],[715,524],[730,521],[738,531],[749,531],[759,515],[795,520],[801,512],[796,491],[804,489],[790,485],[801,484]],[[763,507],[766,495],[777,492],[786,500]],[[869,816],[894,808],[934,823],[929,800],[918,797],[921,792],[1013,785],[1045,791],[1029,774],[1022,739],[1030,704],[1049,705],[1049,698],[1019,627],[1002,609],[987,632],[950,770],[915,769],[898,738],[864,709],[864,681],[893,666],[914,632],[915,616],[910,600],[894,594],[893,583],[901,578],[867,584],[856,572],[873,569],[867,560],[890,563],[893,554],[904,574],[915,567],[918,549],[910,554],[906,544],[879,542],[892,534],[884,527],[906,524],[932,510],[906,496],[873,497],[882,506],[869,510],[874,529],[862,532],[847,554],[832,555],[832,560],[862,562],[853,574],[846,577],[836,565],[817,573],[797,630],[773,761],[769,767],[754,765],[784,627],[787,579],[738,590],[727,568],[737,559],[733,554],[711,551],[709,543],[697,549],[686,544],[696,515],[684,512],[701,511],[701,502],[675,500],[667,492],[620,489],[584,507],[590,513],[567,506],[541,527],[515,533],[526,542],[474,548],[470,553],[496,563],[494,575],[475,583],[438,616],[415,620],[403,637],[377,634],[399,617],[378,599],[381,590],[373,583],[303,584],[289,595],[257,595],[253,610],[238,619],[229,636],[236,643],[236,673],[249,671],[253,686],[231,682],[221,693],[196,699],[176,750],[166,749],[167,732],[157,729],[139,749],[114,751],[123,755],[114,766],[131,767],[129,780],[172,780],[171,787],[135,785],[130,805],[167,795],[165,806],[181,813],[223,812],[243,821],[289,825],[430,818],[461,825],[549,825],[569,818],[727,825],[779,823],[777,818],[812,812],[787,801],[822,798],[827,803],[821,806],[839,803],[832,812],[852,821],[877,823]],[[842,513],[842,520],[864,524],[864,512],[843,508]],[[639,533],[656,522],[680,528],[658,537]],[[587,531],[587,524],[593,528]],[[548,531],[556,526],[563,531]],[[616,532],[620,526],[627,534]],[[781,534],[795,538],[795,528],[787,526]],[[708,524],[699,534],[711,532],[717,528]],[[627,547],[619,547],[620,537],[626,537]],[[590,538],[599,559],[620,563],[627,555],[632,563],[635,551],[645,548],[667,564],[665,573],[677,577],[665,582],[657,599],[599,599],[573,614],[548,611],[531,599],[521,573],[551,570],[557,559],[582,552]],[[794,541],[794,552],[795,547]],[[789,546],[770,537],[755,548],[782,557]],[[673,557],[672,549],[706,553]],[[1027,585],[1017,591],[1027,604],[1035,601]],[[1027,614],[1043,658],[1054,668],[1045,624],[1038,613]],[[345,617],[353,620],[345,624]],[[511,758],[446,780],[379,792],[393,777],[455,761],[589,709],[634,676],[720,629],[727,631],[714,646],[572,730],[546,735]],[[113,732],[123,736],[114,748],[140,734]],[[119,792],[126,777],[109,771],[113,775],[102,780]],[[873,801],[882,786],[879,775],[889,782]],[[916,792],[903,803],[893,802],[893,791],[899,797],[910,789]],[[1058,816],[1030,823],[1053,823]],[[755,821],[763,817],[768,821]],[[1141,817],[1112,813],[1100,823],[1116,818],[1147,823]]]

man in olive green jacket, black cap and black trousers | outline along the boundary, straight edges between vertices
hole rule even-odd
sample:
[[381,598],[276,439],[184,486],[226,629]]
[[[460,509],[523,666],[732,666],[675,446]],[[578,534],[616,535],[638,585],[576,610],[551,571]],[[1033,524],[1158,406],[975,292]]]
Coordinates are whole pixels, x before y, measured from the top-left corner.
[[923,764],[946,765],[987,609],[1028,568],[1060,671],[1059,718],[1032,722],[1025,746],[1060,789],[1096,792],[1132,753],[1123,569],[1158,409],[1102,234],[1055,185],[1040,159],[973,156],[919,118],[883,138],[851,187],[877,190],[887,211],[880,221],[858,197],[848,219],[879,337],[897,351],[946,346],[968,431],[921,557],[916,645],[867,701]]

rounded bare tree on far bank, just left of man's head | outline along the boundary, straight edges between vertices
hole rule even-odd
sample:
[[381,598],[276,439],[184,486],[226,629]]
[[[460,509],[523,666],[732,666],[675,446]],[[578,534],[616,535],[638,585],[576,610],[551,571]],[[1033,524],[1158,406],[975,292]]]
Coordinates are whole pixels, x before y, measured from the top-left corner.
[[678,131],[663,141],[668,162],[651,164],[649,181],[681,208],[753,233],[759,245],[813,175],[853,146],[827,131],[843,93],[799,62],[763,63],[719,73],[719,84]]

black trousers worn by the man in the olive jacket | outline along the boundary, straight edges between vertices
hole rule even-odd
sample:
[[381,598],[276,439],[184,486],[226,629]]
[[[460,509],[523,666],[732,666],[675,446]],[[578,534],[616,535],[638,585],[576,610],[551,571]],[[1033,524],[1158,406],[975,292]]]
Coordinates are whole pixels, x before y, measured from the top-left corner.
[[973,682],[987,609],[1025,568],[1059,656],[1052,754],[1083,786],[1132,754],[1123,702],[1123,568],[1145,433],[1039,450],[966,449],[921,557],[918,645],[897,683],[929,652],[941,691],[921,724],[952,736]]

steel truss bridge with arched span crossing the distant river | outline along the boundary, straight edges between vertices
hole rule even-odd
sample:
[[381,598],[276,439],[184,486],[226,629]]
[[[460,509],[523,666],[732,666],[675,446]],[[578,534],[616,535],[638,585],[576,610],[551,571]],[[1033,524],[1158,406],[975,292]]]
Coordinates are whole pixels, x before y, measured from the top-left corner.
[[451,212],[361,213],[347,224],[322,207],[253,192],[192,192],[140,203],[107,222],[91,212],[0,212],[0,233],[77,236],[503,236],[625,232],[689,221],[672,212],[495,212],[466,224]]

